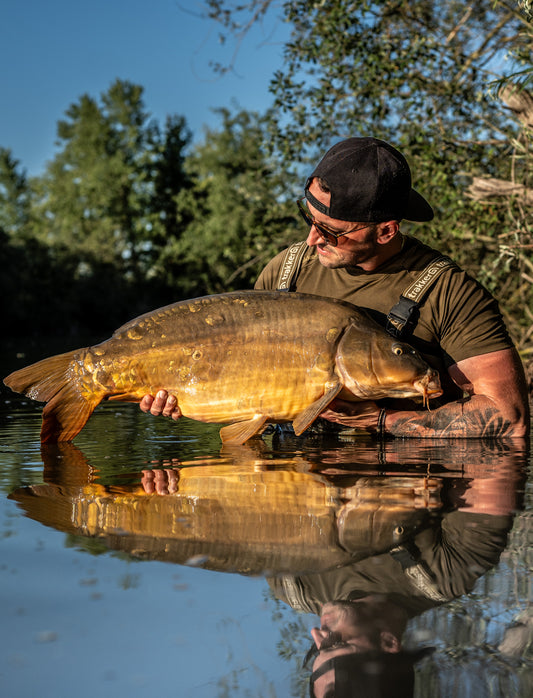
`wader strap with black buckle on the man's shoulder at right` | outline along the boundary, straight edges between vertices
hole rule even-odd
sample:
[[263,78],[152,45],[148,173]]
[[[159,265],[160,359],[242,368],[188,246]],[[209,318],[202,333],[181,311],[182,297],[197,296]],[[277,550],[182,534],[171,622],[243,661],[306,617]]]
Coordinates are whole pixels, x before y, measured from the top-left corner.
[[456,264],[449,257],[437,257],[405,289],[400,300],[387,315],[387,332],[398,339],[409,337],[419,318],[419,306],[443,271]]

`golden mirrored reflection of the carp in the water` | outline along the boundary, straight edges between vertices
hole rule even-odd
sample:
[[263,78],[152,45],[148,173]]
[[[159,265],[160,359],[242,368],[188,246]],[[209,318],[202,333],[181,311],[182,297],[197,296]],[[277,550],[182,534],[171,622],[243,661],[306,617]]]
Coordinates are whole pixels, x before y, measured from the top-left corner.
[[[107,476],[74,444],[42,450],[45,484],[10,494],[26,515],[139,559],[241,574],[317,573],[389,550],[441,508],[439,479],[358,477],[246,449],[201,465]],[[150,476],[172,479],[155,494]],[[168,488],[170,491],[171,488]],[[83,544],[83,543],[82,543]]]

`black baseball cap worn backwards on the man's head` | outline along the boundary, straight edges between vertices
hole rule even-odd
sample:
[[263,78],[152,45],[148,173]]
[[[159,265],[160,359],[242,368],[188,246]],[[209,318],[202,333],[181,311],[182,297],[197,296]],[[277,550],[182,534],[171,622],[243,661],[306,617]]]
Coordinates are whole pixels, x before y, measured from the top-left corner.
[[[328,185],[329,206],[309,193],[314,177]],[[434,216],[428,202],[411,187],[407,160],[378,138],[348,138],[330,148],[307,180],[305,196],[321,213],[341,221],[430,221]]]

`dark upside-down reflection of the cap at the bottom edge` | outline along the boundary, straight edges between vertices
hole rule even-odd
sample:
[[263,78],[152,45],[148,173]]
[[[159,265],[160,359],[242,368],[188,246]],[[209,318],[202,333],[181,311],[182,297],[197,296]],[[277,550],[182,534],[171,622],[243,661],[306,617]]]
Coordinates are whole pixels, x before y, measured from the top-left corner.
[[335,698],[412,698],[414,664],[434,651],[426,647],[413,652],[365,652],[328,659],[311,674],[309,695],[315,695],[315,681],[328,671],[335,674]]

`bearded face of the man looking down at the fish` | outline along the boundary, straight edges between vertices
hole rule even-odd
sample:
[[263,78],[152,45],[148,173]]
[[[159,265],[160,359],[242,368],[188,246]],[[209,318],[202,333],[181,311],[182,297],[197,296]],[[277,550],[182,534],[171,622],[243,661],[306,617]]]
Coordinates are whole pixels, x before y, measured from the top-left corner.
[[[323,192],[313,179],[309,186],[311,194],[325,206],[329,206],[331,195]],[[329,245],[320,235],[319,231],[312,226],[307,236],[309,247],[316,247],[318,258],[321,264],[329,269],[342,269],[354,267],[359,264],[373,260],[379,251],[378,226],[375,224],[348,222],[330,218],[320,213],[314,206],[307,203],[309,211],[318,223],[323,223],[334,233],[342,234],[352,228],[358,228],[356,232],[340,237],[337,246]]]

